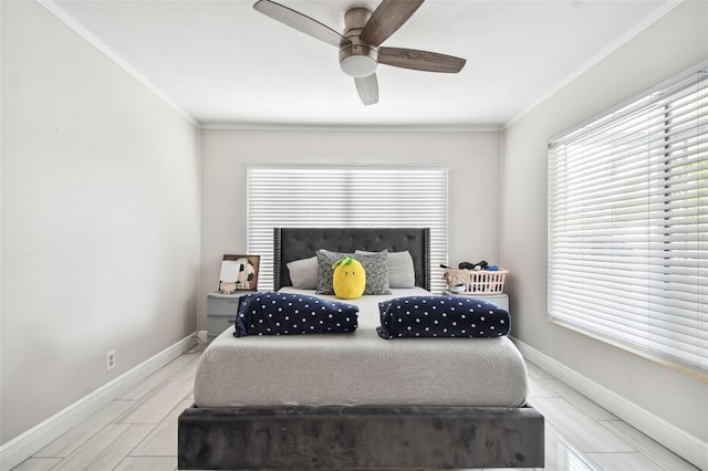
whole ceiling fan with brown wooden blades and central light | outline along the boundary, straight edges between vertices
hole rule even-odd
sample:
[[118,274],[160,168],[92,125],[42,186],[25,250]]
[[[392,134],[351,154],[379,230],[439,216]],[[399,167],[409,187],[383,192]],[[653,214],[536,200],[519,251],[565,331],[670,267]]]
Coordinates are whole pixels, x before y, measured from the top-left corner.
[[362,103],[373,105],[378,102],[378,64],[426,72],[457,73],[467,62],[465,59],[437,52],[381,45],[415,13],[423,1],[383,0],[374,12],[362,7],[352,8],[344,14],[342,34],[271,0],[259,0],[253,8],[273,20],[337,46],[342,71],[354,77]]

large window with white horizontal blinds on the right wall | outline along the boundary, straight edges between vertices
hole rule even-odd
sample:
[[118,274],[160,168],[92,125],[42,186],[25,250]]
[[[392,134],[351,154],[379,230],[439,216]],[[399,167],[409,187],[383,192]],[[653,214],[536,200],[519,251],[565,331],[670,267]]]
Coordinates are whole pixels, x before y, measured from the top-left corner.
[[708,373],[708,74],[550,143],[551,318]]

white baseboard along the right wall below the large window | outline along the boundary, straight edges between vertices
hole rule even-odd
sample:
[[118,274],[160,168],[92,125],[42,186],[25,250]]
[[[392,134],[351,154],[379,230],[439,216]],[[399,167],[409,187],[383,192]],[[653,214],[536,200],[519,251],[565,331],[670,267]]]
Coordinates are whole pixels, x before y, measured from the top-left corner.
[[648,410],[574,371],[562,363],[542,354],[518,338],[513,339],[521,355],[545,369],[573,389],[589,397],[647,437],[662,443],[686,461],[708,470],[708,443],[655,416]]

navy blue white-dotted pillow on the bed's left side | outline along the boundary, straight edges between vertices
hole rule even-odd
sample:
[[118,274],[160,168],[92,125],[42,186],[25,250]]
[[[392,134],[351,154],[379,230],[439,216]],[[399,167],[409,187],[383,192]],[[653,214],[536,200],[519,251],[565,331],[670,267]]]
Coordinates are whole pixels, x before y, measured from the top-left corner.
[[237,337],[354,332],[358,307],[315,296],[266,291],[239,299]]

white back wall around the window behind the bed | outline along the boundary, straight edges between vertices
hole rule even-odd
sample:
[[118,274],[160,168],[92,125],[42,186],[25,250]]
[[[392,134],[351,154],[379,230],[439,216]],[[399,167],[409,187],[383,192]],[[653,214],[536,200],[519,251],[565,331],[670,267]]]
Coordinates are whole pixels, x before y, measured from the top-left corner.
[[497,132],[202,132],[200,328],[225,253],[246,251],[246,168],[253,164],[440,165],[449,176],[449,262],[499,258]]

